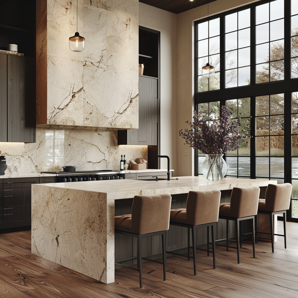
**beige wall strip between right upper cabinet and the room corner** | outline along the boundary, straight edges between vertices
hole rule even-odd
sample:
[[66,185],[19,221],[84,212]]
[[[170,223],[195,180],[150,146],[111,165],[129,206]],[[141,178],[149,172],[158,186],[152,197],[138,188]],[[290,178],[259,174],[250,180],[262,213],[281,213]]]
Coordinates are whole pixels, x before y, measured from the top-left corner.
[[[160,153],[177,176],[177,15],[139,2],[139,25],[160,31]],[[166,159],[160,168],[167,168]]]

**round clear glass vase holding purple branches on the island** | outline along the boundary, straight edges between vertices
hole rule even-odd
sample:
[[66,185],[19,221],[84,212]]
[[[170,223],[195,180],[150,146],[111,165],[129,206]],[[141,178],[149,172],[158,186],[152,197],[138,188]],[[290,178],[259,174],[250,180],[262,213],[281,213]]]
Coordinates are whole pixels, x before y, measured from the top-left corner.
[[206,154],[206,159],[202,164],[203,176],[210,181],[217,181],[226,175],[226,162],[224,154]]

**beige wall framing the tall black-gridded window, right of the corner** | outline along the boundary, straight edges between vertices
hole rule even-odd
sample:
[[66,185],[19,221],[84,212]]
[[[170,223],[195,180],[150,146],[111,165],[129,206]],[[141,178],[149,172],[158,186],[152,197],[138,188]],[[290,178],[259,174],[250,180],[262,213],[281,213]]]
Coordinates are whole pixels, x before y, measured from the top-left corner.
[[[209,15],[214,15],[257,1],[218,0],[209,4]],[[196,7],[177,15],[177,134],[191,121],[194,110],[194,21],[208,16],[208,5]],[[178,176],[194,174],[194,150],[177,138]],[[188,157],[185,157],[188,151]]]

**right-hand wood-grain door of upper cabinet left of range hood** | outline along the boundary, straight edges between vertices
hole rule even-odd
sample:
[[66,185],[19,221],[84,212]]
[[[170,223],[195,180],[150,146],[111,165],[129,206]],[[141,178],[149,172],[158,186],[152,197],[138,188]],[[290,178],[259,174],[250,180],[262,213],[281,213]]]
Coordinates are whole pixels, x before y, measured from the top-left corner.
[[8,55],[8,142],[35,142],[35,64]]

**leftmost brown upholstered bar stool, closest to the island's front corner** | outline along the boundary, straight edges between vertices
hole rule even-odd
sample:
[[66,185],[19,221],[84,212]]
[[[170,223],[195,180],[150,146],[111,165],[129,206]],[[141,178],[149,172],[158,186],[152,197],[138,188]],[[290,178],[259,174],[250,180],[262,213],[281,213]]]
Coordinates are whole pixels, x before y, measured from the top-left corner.
[[[139,271],[140,288],[142,288],[142,260],[163,264],[164,280],[166,280],[166,231],[169,229],[170,209],[172,197],[162,195],[135,195],[131,214],[115,216],[115,233],[129,235],[137,238],[138,268],[129,267]],[[162,235],[162,262],[142,257],[142,238]],[[136,257],[125,259],[125,261]]]

